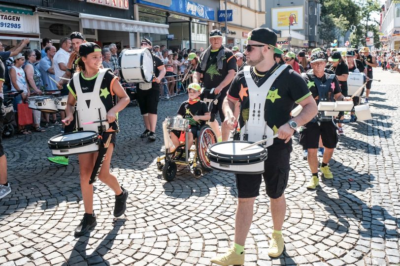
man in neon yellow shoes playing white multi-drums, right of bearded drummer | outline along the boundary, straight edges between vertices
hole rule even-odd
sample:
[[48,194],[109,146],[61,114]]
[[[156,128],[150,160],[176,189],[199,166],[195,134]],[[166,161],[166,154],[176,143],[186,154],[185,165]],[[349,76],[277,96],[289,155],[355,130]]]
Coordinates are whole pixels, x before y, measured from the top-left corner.
[[[335,74],[325,72],[327,55],[323,51],[312,53],[310,63],[312,69],[304,75],[304,80],[307,82],[307,87],[317,104],[320,102],[351,101],[350,97],[344,97],[341,93]],[[310,189],[315,189],[319,185],[317,149],[320,137],[325,147],[320,171],[323,177],[332,179],[333,174],[328,163],[338,141],[332,116],[325,116],[321,113],[306,123],[304,129],[300,132],[300,144],[303,149],[308,150],[307,159],[312,176],[306,187]]]

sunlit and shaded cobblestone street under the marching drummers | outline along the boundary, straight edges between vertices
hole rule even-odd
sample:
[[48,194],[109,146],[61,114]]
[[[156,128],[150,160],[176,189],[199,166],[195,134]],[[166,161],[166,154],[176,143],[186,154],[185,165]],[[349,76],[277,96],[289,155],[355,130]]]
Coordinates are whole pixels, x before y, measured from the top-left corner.
[[[286,189],[286,249],[267,255],[272,222],[269,200],[258,197],[246,242],[246,266],[399,265],[400,74],[374,71],[372,120],[345,126],[330,162],[333,180],[307,191],[310,177],[295,141]],[[47,140],[58,133],[20,135],[4,141],[12,193],[0,201],[0,265],[210,265],[234,234],[234,177],[218,171],[197,179],[181,168],[172,182],[157,170],[161,121],[175,114],[183,96],[160,102],[157,141],[143,131],[137,107],[120,114],[122,132],[112,172],[130,191],[126,216],[113,222],[114,196],[99,181],[98,225],[86,236],[73,230],[84,213],[77,157],[67,167],[49,163]],[[271,155],[270,155],[271,156]]]

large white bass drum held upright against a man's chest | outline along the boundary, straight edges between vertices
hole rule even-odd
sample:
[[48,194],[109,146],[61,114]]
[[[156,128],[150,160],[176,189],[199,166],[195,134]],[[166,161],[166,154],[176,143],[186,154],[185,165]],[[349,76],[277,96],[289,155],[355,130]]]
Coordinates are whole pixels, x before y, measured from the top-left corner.
[[121,78],[127,83],[151,83],[153,80],[153,55],[150,49],[124,49],[119,55]]

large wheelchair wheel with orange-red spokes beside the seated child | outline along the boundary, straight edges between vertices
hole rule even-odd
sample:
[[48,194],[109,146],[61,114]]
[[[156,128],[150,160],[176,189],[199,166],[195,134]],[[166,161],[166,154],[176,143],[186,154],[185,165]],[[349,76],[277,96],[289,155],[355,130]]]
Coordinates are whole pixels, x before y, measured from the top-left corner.
[[204,125],[200,128],[196,142],[196,152],[199,158],[201,167],[204,170],[212,170],[210,161],[207,158],[207,149],[217,143],[217,136],[209,125]]

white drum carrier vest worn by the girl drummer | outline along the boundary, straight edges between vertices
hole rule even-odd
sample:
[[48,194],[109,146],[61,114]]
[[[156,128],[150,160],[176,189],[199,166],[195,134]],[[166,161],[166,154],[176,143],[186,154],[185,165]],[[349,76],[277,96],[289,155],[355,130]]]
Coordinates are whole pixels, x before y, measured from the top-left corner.
[[[82,87],[79,81],[80,72],[73,74],[73,85],[76,91],[76,112],[77,112],[77,125],[78,130],[92,130],[96,132],[104,132],[110,126],[108,122],[97,122],[93,124],[84,125],[86,122],[93,122],[104,120],[107,118],[107,110],[104,104],[101,102],[100,86],[104,78],[104,74],[110,70],[109,68],[104,68],[99,70],[99,75],[96,78],[95,87],[93,93],[83,93]],[[111,95],[110,95],[111,97]]]

